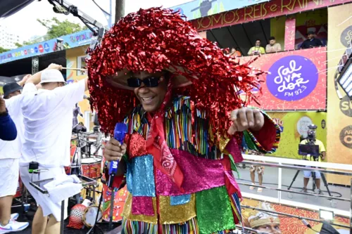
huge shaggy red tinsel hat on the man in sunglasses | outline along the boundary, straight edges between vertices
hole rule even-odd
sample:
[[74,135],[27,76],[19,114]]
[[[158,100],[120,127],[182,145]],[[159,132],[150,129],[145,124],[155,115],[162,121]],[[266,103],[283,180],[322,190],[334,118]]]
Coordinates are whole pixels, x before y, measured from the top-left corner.
[[91,52],[89,91],[102,131],[112,133],[139,102],[126,86],[130,71],[171,71],[174,92],[191,96],[196,108],[206,110],[214,131],[227,130],[230,111],[251,99],[263,72],[225,56],[182,17],[170,9],[140,9],[116,23]]

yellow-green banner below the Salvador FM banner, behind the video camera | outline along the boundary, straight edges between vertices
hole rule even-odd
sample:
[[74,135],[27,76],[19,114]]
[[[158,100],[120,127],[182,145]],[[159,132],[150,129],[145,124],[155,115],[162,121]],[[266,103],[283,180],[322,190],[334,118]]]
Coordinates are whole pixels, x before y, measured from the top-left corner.
[[[327,113],[326,112],[268,112],[281,128],[279,148],[268,156],[287,157],[301,160],[298,155],[298,144],[301,136],[306,137],[309,124],[318,126],[316,137],[327,145]],[[327,158],[329,155],[327,154]]]

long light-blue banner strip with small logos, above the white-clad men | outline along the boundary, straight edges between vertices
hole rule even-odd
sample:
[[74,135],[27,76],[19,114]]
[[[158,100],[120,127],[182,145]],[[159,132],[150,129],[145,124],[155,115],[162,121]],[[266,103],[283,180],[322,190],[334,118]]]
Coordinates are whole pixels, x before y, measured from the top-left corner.
[[30,46],[16,48],[5,53],[0,53],[0,64],[87,45],[90,44],[92,37],[93,32],[90,30],[85,30],[74,34],[65,35],[58,39],[51,39],[49,41],[32,44]]

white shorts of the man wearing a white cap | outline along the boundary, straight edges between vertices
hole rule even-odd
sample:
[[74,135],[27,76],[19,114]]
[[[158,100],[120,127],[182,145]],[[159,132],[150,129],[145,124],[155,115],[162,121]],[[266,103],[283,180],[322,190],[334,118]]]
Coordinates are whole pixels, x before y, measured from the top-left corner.
[[[25,188],[27,188],[28,192],[30,192],[30,194],[34,197],[37,204],[42,207],[44,216],[52,214],[56,221],[61,221],[61,202],[52,202],[49,198],[49,195],[40,193],[39,190],[30,185],[30,181],[56,178],[56,176],[60,176],[61,174],[65,174],[65,169],[63,167],[50,168],[49,171],[42,171],[40,174],[30,174],[28,172],[28,166],[20,167],[20,176],[23,184],[25,185]],[[43,188],[44,184],[48,182],[50,181],[41,183],[40,187]],[[64,219],[67,218],[67,208],[68,200],[65,200]]]

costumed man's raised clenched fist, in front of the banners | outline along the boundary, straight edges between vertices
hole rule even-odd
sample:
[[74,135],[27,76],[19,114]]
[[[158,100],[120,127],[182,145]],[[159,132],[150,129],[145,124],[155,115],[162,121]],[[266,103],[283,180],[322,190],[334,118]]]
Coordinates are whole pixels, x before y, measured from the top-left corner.
[[241,108],[232,110],[231,120],[233,122],[227,131],[228,134],[233,135],[237,131],[259,131],[264,126],[264,115],[258,109]]

